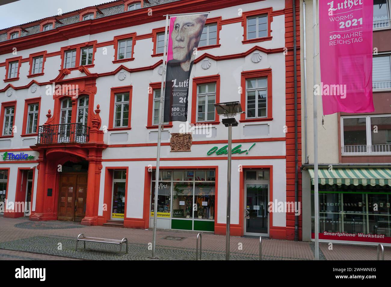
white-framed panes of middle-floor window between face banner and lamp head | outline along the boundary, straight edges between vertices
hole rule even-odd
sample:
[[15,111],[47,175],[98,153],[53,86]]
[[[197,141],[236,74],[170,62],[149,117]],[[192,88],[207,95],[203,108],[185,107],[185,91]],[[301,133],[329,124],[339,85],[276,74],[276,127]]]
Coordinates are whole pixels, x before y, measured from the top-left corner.
[[197,86],[197,122],[214,121],[216,103],[216,84]]

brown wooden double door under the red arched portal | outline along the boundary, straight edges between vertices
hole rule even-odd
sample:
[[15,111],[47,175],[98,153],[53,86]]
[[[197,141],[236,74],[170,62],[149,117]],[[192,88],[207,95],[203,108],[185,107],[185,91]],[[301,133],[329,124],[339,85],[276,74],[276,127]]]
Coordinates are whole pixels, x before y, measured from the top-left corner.
[[60,175],[58,220],[81,221],[86,215],[87,173]]

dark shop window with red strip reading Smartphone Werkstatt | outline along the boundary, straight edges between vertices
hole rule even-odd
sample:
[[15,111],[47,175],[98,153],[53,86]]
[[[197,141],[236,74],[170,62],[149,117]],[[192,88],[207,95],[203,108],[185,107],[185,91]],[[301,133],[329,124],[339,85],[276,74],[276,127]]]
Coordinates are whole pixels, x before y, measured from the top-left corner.
[[391,243],[390,203],[388,185],[319,185],[319,239]]

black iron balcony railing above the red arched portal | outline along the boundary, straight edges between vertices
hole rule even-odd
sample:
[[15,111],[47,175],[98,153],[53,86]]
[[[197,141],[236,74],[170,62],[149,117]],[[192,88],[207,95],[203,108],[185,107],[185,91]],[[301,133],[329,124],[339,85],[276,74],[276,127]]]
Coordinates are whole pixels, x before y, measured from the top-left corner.
[[37,144],[87,143],[90,127],[81,123],[39,126]]

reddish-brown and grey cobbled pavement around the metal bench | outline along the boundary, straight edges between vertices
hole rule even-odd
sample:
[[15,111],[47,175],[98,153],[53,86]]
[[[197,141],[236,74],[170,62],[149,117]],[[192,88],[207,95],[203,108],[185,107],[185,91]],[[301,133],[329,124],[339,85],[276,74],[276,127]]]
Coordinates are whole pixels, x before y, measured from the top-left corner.
[[[63,259],[92,260],[150,260],[152,230],[116,228],[103,226],[81,226],[68,221],[28,221],[27,218],[0,217],[0,259],[40,259],[38,255],[62,257]],[[89,237],[122,239],[129,241],[129,253],[119,256],[120,247],[115,244],[79,242],[75,251],[75,238],[83,233]],[[158,230],[156,232],[156,256],[160,260],[194,260],[198,232]],[[180,238],[178,238],[180,237]],[[175,240],[180,239],[180,240]],[[202,259],[225,259],[224,235],[203,233]],[[258,260],[259,238],[231,237],[230,255],[232,260]],[[13,250],[19,253],[7,253]],[[29,253],[22,253],[27,251]],[[5,252],[5,253],[4,253]],[[263,239],[262,256],[265,260],[313,260],[313,242]],[[328,250],[327,244],[320,244],[320,259],[323,260],[376,260],[376,247],[334,244]],[[12,258],[11,258],[12,257]],[[16,258],[20,257],[20,258]],[[385,248],[385,259],[391,260],[391,248]]]

